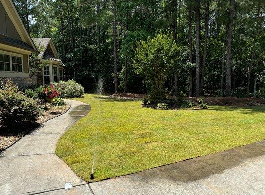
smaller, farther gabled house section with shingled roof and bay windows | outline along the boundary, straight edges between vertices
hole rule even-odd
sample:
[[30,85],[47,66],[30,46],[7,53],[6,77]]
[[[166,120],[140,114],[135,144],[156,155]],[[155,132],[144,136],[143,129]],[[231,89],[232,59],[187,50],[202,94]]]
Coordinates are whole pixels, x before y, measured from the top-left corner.
[[64,64],[60,60],[51,38],[32,38],[40,53],[38,58],[44,64],[37,72],[37,84],[48,85],[63,80]]

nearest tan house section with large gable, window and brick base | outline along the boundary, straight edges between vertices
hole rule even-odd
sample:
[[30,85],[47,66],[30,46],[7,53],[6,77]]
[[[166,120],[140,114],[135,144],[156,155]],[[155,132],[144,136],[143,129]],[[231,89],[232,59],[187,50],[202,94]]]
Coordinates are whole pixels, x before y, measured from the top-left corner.
[[35,52],[12,0],[0,0],[0,78],[11,78],[20,87],[36,83],[29,74],[29,55]]

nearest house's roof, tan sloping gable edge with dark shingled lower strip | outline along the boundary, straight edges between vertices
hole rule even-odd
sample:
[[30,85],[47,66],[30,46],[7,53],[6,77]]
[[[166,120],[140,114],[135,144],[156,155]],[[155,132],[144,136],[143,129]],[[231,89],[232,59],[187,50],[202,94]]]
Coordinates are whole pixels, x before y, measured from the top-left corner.
[[32,39],[29,36],[29,33],[27,32],[19,14],[18,11],[12,2],[12,0],[0,0],[6,13],[8,14],[10,20],[14,24],[16,30],[18,31],[18,34],[20,35],[22,41],[26,44],[22,44],[21,42],[11,40],[11,39],[3,39],[1,38],[1,41],[5,44],[12,44],[12,46],[19,46],[23,47],[22,49],[26,49],[32,52],[37,52],[37,49],[32,41]]

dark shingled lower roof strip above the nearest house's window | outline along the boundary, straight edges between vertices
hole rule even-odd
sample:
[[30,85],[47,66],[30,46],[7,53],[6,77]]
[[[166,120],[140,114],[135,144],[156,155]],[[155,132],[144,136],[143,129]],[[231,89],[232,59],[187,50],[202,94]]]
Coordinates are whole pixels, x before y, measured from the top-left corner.
[[13,47],[18,47],[21,49],[25,49],[25,50],[29,50],[32,52],[36,52],[36,50],[34,50],[31,46],[29,46],[27,43],[18,40],[18,39],[14,39],[11,37],[7,37],[3,34],[0,34],[0,43],[6,44],[6,45],[10,45]]

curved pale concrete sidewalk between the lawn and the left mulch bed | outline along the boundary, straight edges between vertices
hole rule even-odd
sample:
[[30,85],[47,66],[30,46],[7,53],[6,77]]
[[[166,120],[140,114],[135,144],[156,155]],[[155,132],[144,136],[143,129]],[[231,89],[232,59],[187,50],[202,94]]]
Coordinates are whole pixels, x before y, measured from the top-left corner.
[[[78,119],[90,111],[90,106],[66,100],[71,108],[20,139],[0,157],[1,195],[92,195],[89,186],[56,154],[58,139]],[[65,190],[65,183],[73,188]]]

